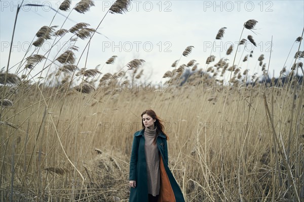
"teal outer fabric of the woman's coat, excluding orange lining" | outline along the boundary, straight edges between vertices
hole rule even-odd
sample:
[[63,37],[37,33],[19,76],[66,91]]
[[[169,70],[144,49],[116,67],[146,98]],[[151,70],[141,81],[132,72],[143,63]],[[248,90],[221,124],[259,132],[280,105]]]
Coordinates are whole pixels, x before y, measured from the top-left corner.
[[[132,154],[130,160],[130,178],[136,181],[136,187],[130,190],[130,202],[148,202],[147,169],[144,150],[144,130],[141,129],[134,134]],[[157,146],[160,151],[164,168],[174,192],[175,201],[184,202],[184,197],[174,176],[168,167],[167,139],[163,133],[157,137]],[[171,202],[171,201],[170,201]]]

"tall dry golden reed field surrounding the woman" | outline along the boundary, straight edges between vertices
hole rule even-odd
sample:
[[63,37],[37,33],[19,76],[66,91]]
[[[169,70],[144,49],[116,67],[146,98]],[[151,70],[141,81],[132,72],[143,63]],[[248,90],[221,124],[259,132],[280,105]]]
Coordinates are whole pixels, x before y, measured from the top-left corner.
[[[124,13],[128,2],[117,1],[109,12]],[[90,4],[82,0],[71,10],[84,13]],[[255,24],[249,20],[244,28]],[[84,23],[69,30],[44,26],[33,45],[71,33],[71,41],[89,41],[95,29]],[[220,29],[216,39],[223,34]],[[259,75],[247,76],[237,62],[215,63],[210,56],[205,69],[196,61],[175,62],[159,88],[138,84],[145,73],[139,59],[115,74],[80,69],[74,52],[82,48],[58,53],[56,70],[39,82],[32,82],[31,70],[47,54],[28,56],[15,73],[0,72],[1,201],[128,201],[133,134],[146,109],[165,122],[169,168],[187,202],[304,201],[304,82],[295,77],[303,52],[291,72],[282,70],[278,83],[259,83]],[[181,50],[181,57],[192,48]],[[180,85],[186,69],[194,73]],[[225,72],[229,83],[219,79]],[[284,76],[289,82],[283,85]]]

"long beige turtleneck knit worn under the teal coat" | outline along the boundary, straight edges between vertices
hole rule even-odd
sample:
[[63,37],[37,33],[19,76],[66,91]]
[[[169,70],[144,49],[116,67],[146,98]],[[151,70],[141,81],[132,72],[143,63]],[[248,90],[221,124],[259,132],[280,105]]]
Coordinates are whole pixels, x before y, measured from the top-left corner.
[[154,138],[156,135],[156,128],[150,130],[145,127],[144,129],[144,150],[147,165],[147,183],[148,183],[148,193],[156,196],[160,193],[160,157],[157,143],[154,144]]

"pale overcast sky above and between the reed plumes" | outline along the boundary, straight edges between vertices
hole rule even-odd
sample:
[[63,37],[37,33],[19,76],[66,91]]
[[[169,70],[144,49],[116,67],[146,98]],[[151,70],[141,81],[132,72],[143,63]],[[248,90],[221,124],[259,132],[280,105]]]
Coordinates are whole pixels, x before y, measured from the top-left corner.
[[[18,2],[21,3],[21,1],[2,0],[0,2],[1,68],[6,67],[8,63],[9,44]],[[37,30],[44,25],[50,25],[55,12],[48,6],[57,10],[62,2],[58,0],[24,2],[24,4],[41,4],[44,7],[21,9],[16,25],[10,67],[22,60],[30,42],[35,39]],[[72,1],[72,7],[78,2]],[[96,28],[113,2],[96,0],[95,6],[85,14],[73,10],[63,28],[69,29],[79,22],[89,23],[89,27]],[[63,11],[60,13],[65,16],[69,14]],[[194,59],[200,63],[199,68],[205,69],[206,59],[210,54],[216,57],[215,62],[225,57],[232,65],[236,49],[229,56],[225,53],[230,44],[233,43],[234,48],[237,47],[243,25],[249,19],[258,21],[253,30],[255,33],[245,29],[242,38],[252,35],[257,46],[248,43],[244,53],[242,46],[237,54],[236,64],[239,64],[242,71],[248,68],[251,74],[255,72],[261,74],[257,59],[264,54],[263,62],[268,65],[273,36],[270,75],[274,71],[275,76],[278,76],[286,59],[288,59],[287,69],[290,69],[299,43],[294,44],[290,56],[288,58],[287,56],[304,27],[304,1],[133,1],[129,12],[122,15],[110,13],[106,15],[98,29],[101,34],[95,34],[90,44],[87,68],[103,65],[111,56],[117,55],[115,64],[106,65],[102,69],[103,74],[113,73],[133,59],[143,59],[146,61],[144,78],[155,82],[162,81],[163,74],[173,69],[172,63],[181,57],[184,49],[189,45],[194,46],[192,54],[181,57],[179,65]],[[64,20],[65,17],[57,14],[52,25],[60,27]],[[221,27],[227,27],[225,34],[222,40],[215,41],[212,49],[212,43]],[[88,39],[77,42],[76,45],[80,47],[77,59],[87,41]],[[38,54],[44,54],[44,50],[52,42],[48,40]],[[56,57],[60,48],[67,47],[63,42],[64,40],[51,52],[50,60]],[[302,43],[300,51],[303,51],[303,47]],[[31,46],[29,53],[33,50],[34,46]],[[253,57],[243,63],[243,58],[250,51],[253,51]],[[42,69],[42,64],[36,66],[35,72]],[[84,67],[84,64],[85,57],[81,59],[79,67]],[[10,70],[12,73],[15,71],[15,68]]]

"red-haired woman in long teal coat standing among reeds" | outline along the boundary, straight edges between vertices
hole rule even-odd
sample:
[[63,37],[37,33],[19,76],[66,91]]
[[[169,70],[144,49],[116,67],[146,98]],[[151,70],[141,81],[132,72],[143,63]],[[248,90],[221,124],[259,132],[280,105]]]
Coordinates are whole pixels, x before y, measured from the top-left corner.
[[153,110],[141,114],[142,129],[134,134],[130,160],[130,202],[183,202],[168,167],[168,136]]

